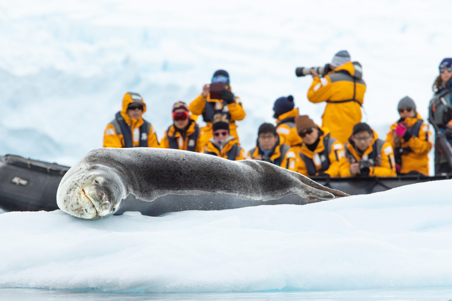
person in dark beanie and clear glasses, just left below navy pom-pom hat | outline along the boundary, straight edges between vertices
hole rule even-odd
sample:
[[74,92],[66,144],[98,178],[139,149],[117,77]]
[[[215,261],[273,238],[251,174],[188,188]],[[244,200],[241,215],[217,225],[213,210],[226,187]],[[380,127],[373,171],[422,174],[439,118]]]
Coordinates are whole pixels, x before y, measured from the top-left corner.
[[281,142],[275,126],[271,123],[263,123],[259,126],[256,147],[249,153],[253,160],[261,160],[282,167],[283,159],[289,149],[290,146]]

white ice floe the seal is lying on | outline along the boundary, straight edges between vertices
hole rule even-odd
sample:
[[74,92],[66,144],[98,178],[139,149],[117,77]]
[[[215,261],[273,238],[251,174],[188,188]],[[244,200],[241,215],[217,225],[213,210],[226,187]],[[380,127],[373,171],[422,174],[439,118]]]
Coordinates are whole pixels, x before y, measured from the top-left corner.
[[452,287],[450,181],[295,206],[0,215],[0,288],[221,292]]

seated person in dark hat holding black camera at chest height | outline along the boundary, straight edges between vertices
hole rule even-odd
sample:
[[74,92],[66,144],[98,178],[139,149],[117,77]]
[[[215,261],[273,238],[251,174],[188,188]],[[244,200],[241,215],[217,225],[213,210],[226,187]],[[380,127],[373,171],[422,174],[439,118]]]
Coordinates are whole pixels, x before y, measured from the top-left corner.
[[397,176],[391,144],[379,139],[367,123],[353,127],[345,149],[347,162],[341,168],[341,177]]

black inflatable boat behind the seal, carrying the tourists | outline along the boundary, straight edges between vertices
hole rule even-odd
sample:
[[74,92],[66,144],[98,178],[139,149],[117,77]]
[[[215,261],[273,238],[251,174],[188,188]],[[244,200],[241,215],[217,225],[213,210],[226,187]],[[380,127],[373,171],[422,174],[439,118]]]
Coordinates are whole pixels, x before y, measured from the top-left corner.
[[[0,208],[5,211],[53,211],[58,209],[56,192],[69,167],[25,159],[0,156]],[[350,195],[370,194],[399,186],[450,179],[399,176],[397,178],[314,178],[319,184]]]

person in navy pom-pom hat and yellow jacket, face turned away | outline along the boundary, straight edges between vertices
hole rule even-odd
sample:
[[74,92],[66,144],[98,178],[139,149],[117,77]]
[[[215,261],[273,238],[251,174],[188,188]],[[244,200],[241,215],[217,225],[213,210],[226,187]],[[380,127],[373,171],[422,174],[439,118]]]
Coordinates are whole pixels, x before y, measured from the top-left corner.
[[281,137],[281,142],[287,145],[301,143],[295,129],[295,117],[298,116],[298,108],[295,108],[293,96],[282,96],[275,100],[273,105],[273,118],[276,118],[276,132]]

